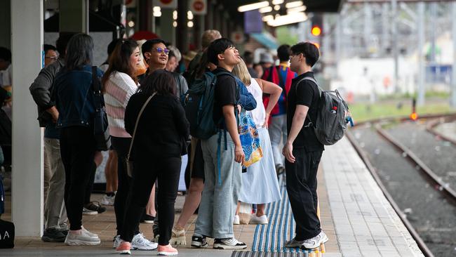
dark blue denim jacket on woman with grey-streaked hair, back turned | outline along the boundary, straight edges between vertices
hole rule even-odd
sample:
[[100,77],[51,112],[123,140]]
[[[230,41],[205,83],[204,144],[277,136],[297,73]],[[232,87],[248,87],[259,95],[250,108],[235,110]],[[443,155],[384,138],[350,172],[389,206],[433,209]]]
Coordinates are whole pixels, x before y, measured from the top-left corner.
[[[100,79],[103,72],[98,69]],[[54,81],[55,107],[59,111],[57,128],[68,126],[93,126],[95,95],[92,86],[92,67],[80,70],[62,69]]]

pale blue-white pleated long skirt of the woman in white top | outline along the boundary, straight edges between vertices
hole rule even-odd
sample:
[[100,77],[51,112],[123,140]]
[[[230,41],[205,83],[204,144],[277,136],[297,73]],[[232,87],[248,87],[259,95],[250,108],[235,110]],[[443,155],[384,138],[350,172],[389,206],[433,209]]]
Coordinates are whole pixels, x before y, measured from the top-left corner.
[[249,166],[246,173],[242,173],[239,201],[249,204],[267,204],[281,199],[269,133],[266,128],[260,128],[258,135],[263,157]]

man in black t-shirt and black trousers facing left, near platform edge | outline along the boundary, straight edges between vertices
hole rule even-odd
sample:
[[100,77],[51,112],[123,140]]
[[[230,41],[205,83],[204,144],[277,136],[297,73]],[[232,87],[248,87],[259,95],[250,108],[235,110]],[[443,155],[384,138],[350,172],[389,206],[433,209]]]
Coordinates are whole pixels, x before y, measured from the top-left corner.
[[311,124],[316,119],[320,93],[313,81],[304,79],[314,79],[311,67],[318,57],[318,48],[309,42],[290,48],[290,69],[298,74],[288,93],[288,139],[283,146],[286,187],[296,221],[295,238],[285,244],[290,248],[314,249],[328,241],[316,215],[316,172],[324,147]]

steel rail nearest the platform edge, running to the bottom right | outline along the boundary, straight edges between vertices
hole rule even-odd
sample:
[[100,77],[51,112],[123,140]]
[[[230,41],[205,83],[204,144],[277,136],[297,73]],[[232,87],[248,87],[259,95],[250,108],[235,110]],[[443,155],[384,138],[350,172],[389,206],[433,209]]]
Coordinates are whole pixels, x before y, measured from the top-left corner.
[[382,180],[380,180],[380,176],[377,174],[377,169],[370,163],[366,153],[361,149],[361,146],[356,142],[356,139],[354,139],[354,136],[351,135],[351,132],[347,131],[345,133],[345,136],[347,136],[348,140],[350,141],[351,145],[355,148],[356,152],[358,152],[359,156],[363,160],[364,164],[366,164],[366,167],[368,168],[368,171],[370,174],[373,176],[375,182],[377,185],[380,187],[380,190],[382,190],[383,195],[387,197],[389,204],[393,207],[394,211],[396,211],[397,215],[399,218],[401,218],[402,223],[405,225],[405,228],[407,228],[408,232],[410,232],[410,235],[412,235],[413,239],[415,239],[415,242],[418,245],[418,248],[422,251],[424,256],[427,257],[434,257],[434,254],[429,250],[427,245],[424,243],[423,239],[420,237],[418,232],[413,228],[413,225],[408,221],[406,218],[405,214],[401,211],[401,208],[394,202],[393,197],[389,194],[387,187],[385,187],[382,183]]

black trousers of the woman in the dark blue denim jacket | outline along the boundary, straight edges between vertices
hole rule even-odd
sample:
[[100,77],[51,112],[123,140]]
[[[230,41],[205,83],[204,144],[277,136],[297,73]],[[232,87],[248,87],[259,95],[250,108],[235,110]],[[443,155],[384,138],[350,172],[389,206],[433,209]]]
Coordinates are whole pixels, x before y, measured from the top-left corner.
[[65,167],[65,206],[70,230],[80,230],[86,188],[93,170],[93,129],[71,126],[60,129],[60,154]]

